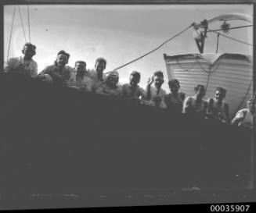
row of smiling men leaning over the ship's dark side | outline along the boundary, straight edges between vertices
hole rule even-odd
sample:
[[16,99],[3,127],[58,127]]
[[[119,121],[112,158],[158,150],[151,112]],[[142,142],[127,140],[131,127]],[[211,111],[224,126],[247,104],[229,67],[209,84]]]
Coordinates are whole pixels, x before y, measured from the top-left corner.
[[113,99],[125,99],[132,105],[150,105],[155,108],[167,108],[174,113],[187,113],[201,117],[212,117],[221,122],[237,126],[253,128],[255,117],[255,102],[247,101],[247,108],[236,113],[230,120],[229,105],[225,103],[226,91],[222,87],[216,88],[215,98],[204,100],[206,93],[204,85],[194,87],[195,95],[187,98],[186,94],[179,91],[178,80],[169,80],[171,93],[167,94],[161,87],[164,83],[164,74],[161,71],[153,73],[147,82],[146,88],[139,87],[140,73],[133,71],[129,83],[118,83],[119,74],[111,71],[107,75],[106,59],[96,59],[95,69],[86,69],[86,62],[75,62],[74,68],[67,66],[70,55],[66,51],[57,53],[56,61],[51,66],[46,66],[38,73],[38,64],[32,59],[36,53],[36,46],[26,43],[23,46],[23,56],[9,59],[5,65],[5,73],[24,74],[62,86],[73,87],[80,91],[102,94]]

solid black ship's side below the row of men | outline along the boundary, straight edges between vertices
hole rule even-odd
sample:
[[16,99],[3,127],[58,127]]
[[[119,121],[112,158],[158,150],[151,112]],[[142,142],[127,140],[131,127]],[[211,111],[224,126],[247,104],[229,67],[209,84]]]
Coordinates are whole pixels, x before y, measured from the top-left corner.
[[0,97],[2,201],[179,190],[168,204],[200,203],[215,200],[195,190],[252,187],[248,130],[2,73]]

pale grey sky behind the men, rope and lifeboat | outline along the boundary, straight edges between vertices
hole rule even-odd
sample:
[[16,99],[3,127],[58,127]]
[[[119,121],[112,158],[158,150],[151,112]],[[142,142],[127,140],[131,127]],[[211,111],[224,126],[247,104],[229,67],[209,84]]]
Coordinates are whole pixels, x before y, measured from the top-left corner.
[[[20,56],[23,44],[29,41],[27,5],[19,7],[16,5],[13,20],[14,5],[4,6],[4,61],[8,49],[9,58]],[[107,60],[105,72],[108,72],[157,48],[193,22],[233,12],[252,16],[253,5],[29,5],[31,43],[37,46],[33,59],[38,62],[40,72],[52,65],[58,51],[65,50],[70,53],[69,66],[74,67],[74,62],[84,60],[87,68],[92,69],[96,58],[103,57]],[[229,23],[231,27],[248,24],[242,20]],[[219,29],[221,24],[212,23],[209,28]],[[252,27],[231,30],[226,35],[253,44]],[[208,33],[204,52],[215,53],[216,44],[216,34]],[[220,37],[218,52],[252,55],[252,47]],[[143,59],[118,69],[120,83],[127,83],[129,73],[137,70],[142,76],[139,84],[145,87],[153,72],[161,70],[165,79],[163,88],[169,91],[164,53],[199,53],[193,28]]]

